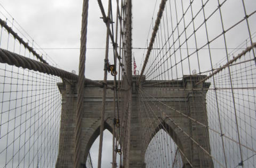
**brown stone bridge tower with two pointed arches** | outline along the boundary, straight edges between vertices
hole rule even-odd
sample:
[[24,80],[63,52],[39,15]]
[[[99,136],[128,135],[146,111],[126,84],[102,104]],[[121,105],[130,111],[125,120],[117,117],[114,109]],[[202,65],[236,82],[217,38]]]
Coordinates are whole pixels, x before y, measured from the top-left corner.
[[[182,157],[183,167],[213,167],[212,159],[205,155],[202,151],[204,148],[208,153],[211,153],[209,144],[209,130],[202,125],[196,124],[188,118],[194,118],[196,121],[208,125],[207,111],[204,89],[192,89],[195,88],[195,83],[205,76],[184,76],[179,81],[151,81],[159,83],[154,85],[155,88],[142,87],[137,85],[138,76],[132,77],[132,112],[131,112],[131,138],[130,138],[130,151],[129,151],[129,168],[141,168],[147,167],[145,164],[145,151],[150,143],[150,140],[154,137],[154,132],[157,132],[161,127],[155,124],[155,129],[148,129],[148,132],[152,132],[150,137],[144,137],[141,128],[142,120],[151,120],[152,123],[157,118],[168,131],[168,134],[172,137],[173,141],[179,149],[188,158],[186,160]],[[148,81],[149,82],[149,81]],[[148,83],[143,82],[143,83]],[[113,81],[108,81],[108,85],[113,85]],[[196,85],[196,88],[209,88],[210,83],[202,83]],[[76,106],[77,106],[77,85],[76,83],[70,83],[64,81],[58,83],[62,95],[62,112],[61,112],[61,127],[60,127],[60,147],[56,167],[73,167],[74,162],[74,142],[75,142],[75,125],[76,125]],[[172,89],[170,89],[172,88]],[[139,90],[147,92],[148,96],[145,100],[156,104],[154,111],[156,116],[148,116],[143,118],[140,115]],[[168,92],[166,92],[166,90]],[[150,95],[150,96],[149,96]],[[165,105],[172,108],[164,108],[163,104],[157,100],[164,102]],[[179,102],[179,106],[177,105]],[[180,106],[181,104],[181,106]],[[83,113],[83,140],[81,151],[83,153],[82,167],[86,163],[86,158],[89,150],[100,134],[100,113],[102,108],[102,88],[94,87],[93,85],[84,85],[84,113]],[[159,110],[164,109],[164,111]],[[182,112],[184,115],[177,113]],[[122,113],[122,111],[120,111]],[[168,119],[168,118],[171,118]],[[179,125],[179,127],[177,127]],[[113,90],[107,91],[106,99],[106,115],[104,129],[108,129],[113,132]],[[189,135],[185,135],[184,132],[188,132]],[[191,140],[195,139],[200,144],[198,146]],[[146,142],[146,143],[145,143]],[[202,163],[204,163],[202,165]]]

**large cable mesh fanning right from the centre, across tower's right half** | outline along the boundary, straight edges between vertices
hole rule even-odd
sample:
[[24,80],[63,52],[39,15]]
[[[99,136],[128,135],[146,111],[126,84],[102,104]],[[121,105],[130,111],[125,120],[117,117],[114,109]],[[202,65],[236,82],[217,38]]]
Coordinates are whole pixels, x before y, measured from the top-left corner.
[[[141,115],[148,119],[143,134],[148,143],[152,139],[145,146],[147,167],[166,167],[166,160],[159,159],[175,156],[170,153],[173,150],[166,150],[170,144],[163,141],[164,136],[157,139],[164,131],[172,137],[168,127],[179,139],[182,132],[189,139],[189,148],[198,148],[197,153],[186,153],[181,147],[184,143],[174,139],[182,164],[255,167],[256,11],[252,3],[166,1],[140,88]],[[150,26],[152,36],[154,26],[156,23]],[[154,113],[155,117],[150,116]],[[192,130],[174,114],[184,122],[188,119]],[[165,130],[157,133],[157,127]],[[157,147],[161,144],[165,148]],[[198,156],[199,162],[195,160]]]

